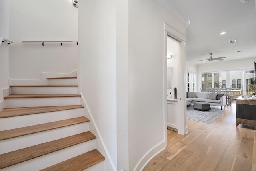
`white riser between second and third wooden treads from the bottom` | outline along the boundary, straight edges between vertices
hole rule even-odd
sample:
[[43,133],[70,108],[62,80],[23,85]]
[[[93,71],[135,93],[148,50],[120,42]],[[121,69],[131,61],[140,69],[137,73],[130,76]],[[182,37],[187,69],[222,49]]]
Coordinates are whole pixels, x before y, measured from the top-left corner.
[[50,142],[67,136],[89,131],[89,122],[56,128],[53,130],[28,134],[0,141],[0,154],[30,147],[40,143]]

